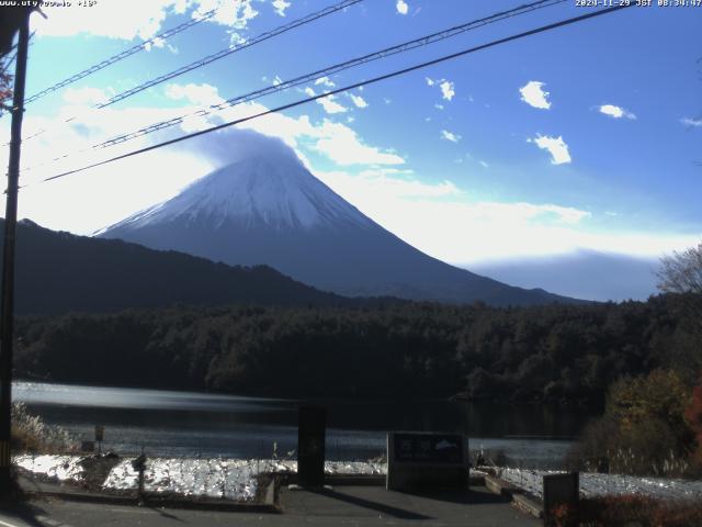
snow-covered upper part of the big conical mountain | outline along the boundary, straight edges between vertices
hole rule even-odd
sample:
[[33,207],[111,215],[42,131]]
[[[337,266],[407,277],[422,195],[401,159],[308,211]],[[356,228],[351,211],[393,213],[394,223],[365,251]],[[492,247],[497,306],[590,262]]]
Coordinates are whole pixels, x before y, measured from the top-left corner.
[[139,228],[172,221],[207,224],[212,228],[231,223],[265,225],[278,231],[372,224],[315,178],[292,153],[245,157],[115,226]]

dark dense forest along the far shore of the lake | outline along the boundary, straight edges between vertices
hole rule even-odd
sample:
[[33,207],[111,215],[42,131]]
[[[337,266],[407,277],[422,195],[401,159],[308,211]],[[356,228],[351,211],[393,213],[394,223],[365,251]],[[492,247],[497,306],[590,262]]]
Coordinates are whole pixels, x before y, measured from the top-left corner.
[[19,378],[69,383],[601,405],[616,379],[657,368],[694,383],[702,354],[689,301],[174,306],[20,318],[15,366]]

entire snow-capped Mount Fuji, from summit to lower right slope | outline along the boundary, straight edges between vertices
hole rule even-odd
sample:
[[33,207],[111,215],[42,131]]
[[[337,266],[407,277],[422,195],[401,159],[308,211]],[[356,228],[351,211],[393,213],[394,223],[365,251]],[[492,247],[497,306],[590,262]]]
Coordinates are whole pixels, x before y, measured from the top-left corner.
[[491,305],[573,302],[444,264],[363,215],[280,144],[249,152],[179,195],[97,234],[229,265],[269,265],[349,296]]

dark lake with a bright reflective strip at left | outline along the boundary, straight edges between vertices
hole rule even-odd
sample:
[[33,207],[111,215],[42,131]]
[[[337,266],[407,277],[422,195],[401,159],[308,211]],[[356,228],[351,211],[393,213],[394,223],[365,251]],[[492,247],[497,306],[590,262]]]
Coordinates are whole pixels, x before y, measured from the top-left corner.
[[500,450],[511,464],[559,466],[587,411],[450,401],[303,401],[125,388],[15,382],[13,397],[81,440],[103,425],[104,449],[149,456],[270,458],[297,446],[297,408],[328,410],[327,458],[367,460],[388,430],[462,433],[471,449]]

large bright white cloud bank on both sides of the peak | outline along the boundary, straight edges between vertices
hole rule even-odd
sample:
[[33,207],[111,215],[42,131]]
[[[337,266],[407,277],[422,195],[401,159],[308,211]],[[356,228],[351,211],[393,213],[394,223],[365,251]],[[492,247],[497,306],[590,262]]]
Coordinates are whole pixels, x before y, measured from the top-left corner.
[[[200,109],[196,101],[217,102],[222,98],[207,85],[168,87],[178,108],[105,108],[89,112],[78,122],[63,123],[76,115],[77,106],[87,109],[100,97],[90,90],[76,90],[70,105],[59,106],[56,114],[25,116],[27,134],[37,127],[54,126],[50,136],[23,144],[23,166],[52,160],[57,154],[90,146],[117,133],[163,121]],[[215,124],[267,111],[257,103],[227,109],[216,119],[200,124]],[[192,125],[189,124],[188,126]],[[0,122],[7,136],[8,122]],[[698,236],[653,232],[590,232],[590,212],[558,203],[506,203],[480,200],[451,180],[427,181],[403,169],[405,159],[392,149],[366,143],[347,124],[328,120],[314,122],[307,115],[274,113],[237,126],[282,138],[298,155],[316,152],[339,167],[359,170],[350,175],[341,168],[332,172],[313,173],[340,195],[356,205],[406,242],[419,249],[452,262],[516,258],[562,254],[579,248],[657,256],[699,243]],[[185,127],[183,127],[185,130]],[[76,168],[107,155],[148,146],[160,136],[147,136],[123,145],[71,157],[23,173],[20,217],[31,217],[49,228],[88,234],[125,216],[173,197],[181,188],[217,167],[203,153],[203,147],[218,144],[223,153],[231,147],[231,131],[220,131],[117,161],[99,169],[78,173],[52,183],[32,184],[43,177]],[[0,157],[7,153],[0,153]],[[466,156],[467,158],[467,156]],[[305,160],[305,159],[303,159]],[[0,159],[7,165],[7,159]],[[381,167],[381,168],[377,168]],[[138,192],[134,192],[134,189]]]

